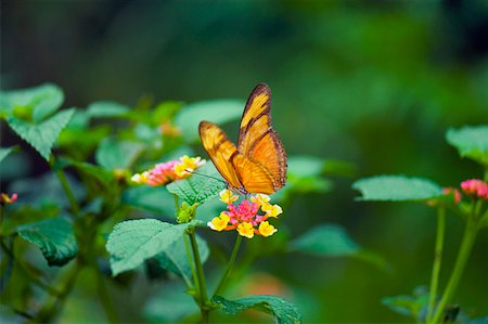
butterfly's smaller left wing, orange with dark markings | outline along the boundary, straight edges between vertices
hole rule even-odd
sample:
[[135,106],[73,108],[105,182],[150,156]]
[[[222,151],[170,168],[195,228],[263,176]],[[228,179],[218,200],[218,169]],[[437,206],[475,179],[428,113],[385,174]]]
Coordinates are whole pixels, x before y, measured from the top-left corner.
[[222,174],[230,185],[242,187],[239,176],[232,164],[233,156],[237,155],[235,145],[229,141],[226,133],[213,122],[202,121],[198,131],[202,144],[220,174]]

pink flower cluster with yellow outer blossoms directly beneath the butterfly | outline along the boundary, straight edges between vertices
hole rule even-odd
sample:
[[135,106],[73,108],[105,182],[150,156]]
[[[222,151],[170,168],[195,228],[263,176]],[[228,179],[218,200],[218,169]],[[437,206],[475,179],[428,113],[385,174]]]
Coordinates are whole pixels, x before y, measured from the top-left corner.
[[221,191],[220,200],[227,204],[228,210],[209,221],[208,226],[219,232],[236,230],[247,238],[253,238],[254,235],[271,236],[278,231],[268,219],[278,218],[283,210],[279,205],[271,205],[268,195],[256,194],[234,205],[237,199],[239,196],[230,190]]

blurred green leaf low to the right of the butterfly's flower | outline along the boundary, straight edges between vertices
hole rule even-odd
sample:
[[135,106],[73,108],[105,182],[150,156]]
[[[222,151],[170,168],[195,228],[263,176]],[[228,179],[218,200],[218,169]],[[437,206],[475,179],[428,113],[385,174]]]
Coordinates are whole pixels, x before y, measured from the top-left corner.
[[313,226],[290,246],[292,250],[330,257],[351,256],[361,249],[342,226],[330,224]]

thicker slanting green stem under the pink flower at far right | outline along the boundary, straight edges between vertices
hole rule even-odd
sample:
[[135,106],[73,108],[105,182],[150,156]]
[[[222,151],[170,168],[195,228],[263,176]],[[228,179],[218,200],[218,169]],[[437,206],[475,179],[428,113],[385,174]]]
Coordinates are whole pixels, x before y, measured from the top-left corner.
[[458,258],[454,263],[454,270],[451,273],[448,285],[444,291],[442,298],[437,306],[436,312],[432,317],[429,323],[440,323],[440,317],[442,316],[447,304],[451,301],[454,296],[458,284],[463,274],[464,267],[466,265],[467,259],[470,257],[471,249],[476,238],[476,232],[478,230],[478,224],[476,222],[475,216],[471,215],[467,219],[466,228],[464,230],[463,239],[461,242],[461,247],[459,249]]

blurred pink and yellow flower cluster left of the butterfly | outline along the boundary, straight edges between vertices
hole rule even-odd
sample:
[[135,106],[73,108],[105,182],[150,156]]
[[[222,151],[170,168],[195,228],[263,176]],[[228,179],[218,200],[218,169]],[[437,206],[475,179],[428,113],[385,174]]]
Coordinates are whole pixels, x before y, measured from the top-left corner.
[[187,155],[177,160],[157,164],[154,168],[130,178],[136,183],[145,183],[152,186],[165,185],[176,180],[190,177],[191,172],[205,164],[205,159],[189,157]]

